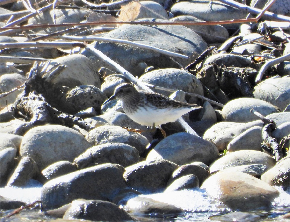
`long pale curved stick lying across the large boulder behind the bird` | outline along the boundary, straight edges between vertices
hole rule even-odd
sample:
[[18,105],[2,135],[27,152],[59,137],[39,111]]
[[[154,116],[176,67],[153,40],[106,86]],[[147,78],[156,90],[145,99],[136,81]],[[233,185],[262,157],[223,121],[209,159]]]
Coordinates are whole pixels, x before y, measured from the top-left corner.
[[155,52],[158,52],[160,54],[168,55],[168,56],[174,56],[182,59],[189,59],[188,56],[176,53],[176,52],[170,52],[168,50],[160,49],[154,46],[148,46],[128,40],[123,40],[123,39],[110,39],[110,38],[103,38],[103,37],[88,37],[88,36],[82,36],[82,37],[74,37],[74,36],[61,36],[61,39],[70,39],[70,40],[76,40],[76,41],[103,41],[103,42],[113,42],[113,43],[120,43],[120,44],[126,44],[138,48],[144,48],[144,49],[149,49],[153,50]]

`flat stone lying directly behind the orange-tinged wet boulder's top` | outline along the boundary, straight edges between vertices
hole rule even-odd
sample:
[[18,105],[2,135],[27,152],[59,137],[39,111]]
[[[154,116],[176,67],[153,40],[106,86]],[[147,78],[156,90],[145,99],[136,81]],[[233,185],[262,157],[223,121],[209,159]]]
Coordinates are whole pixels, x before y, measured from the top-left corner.
[[247,173],[251,176],[260,177],[264,172],[267,171],[267,166],[264,164],[248,164],[236,167],[229,167],[220,172],[227,172],[231,174],[231,172],[241,172]]

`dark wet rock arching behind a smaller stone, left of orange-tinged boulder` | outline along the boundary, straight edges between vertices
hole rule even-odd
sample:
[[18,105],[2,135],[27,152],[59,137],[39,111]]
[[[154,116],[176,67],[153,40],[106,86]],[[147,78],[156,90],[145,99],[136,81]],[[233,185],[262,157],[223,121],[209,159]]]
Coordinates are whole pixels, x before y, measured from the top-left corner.
[[202,183],[211,175],[209,171],[206,170],[205,168],[199,165],[190,163],[190,164],[182,165],[177,170],[175,170],[172,173],[169,183],[172,183],[174,180],[182,176],[189,175],[189,174],[193,174],[197,176],[200,185],[202,185]]

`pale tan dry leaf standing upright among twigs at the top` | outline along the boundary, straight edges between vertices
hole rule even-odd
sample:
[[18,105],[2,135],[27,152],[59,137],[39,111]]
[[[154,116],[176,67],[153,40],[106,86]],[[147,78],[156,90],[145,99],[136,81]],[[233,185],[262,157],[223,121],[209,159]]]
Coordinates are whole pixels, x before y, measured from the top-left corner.
[[119,21],[133,21],[137,18],[140,13],[141,5],[136,2],[132,1],[125,6],[121,6],[120,14],[119,14]]

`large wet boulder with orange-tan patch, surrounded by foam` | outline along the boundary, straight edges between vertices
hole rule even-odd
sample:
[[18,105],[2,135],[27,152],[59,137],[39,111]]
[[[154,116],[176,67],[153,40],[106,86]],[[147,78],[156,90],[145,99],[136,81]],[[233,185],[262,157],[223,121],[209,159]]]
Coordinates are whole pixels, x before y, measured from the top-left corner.
[[231,210],[249,211],[270,207],[279,191],[260,179],[240,172],[219,172],[201,186]]

